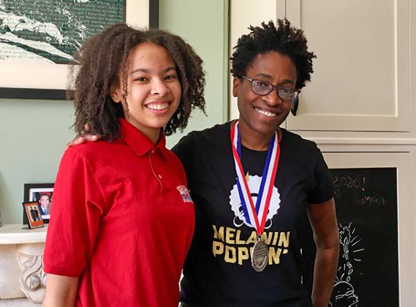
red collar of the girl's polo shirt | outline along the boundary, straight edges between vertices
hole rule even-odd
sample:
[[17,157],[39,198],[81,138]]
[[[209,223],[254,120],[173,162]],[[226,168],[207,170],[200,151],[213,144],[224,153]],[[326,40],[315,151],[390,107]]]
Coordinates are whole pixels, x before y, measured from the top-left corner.
[[119,124],[121,132],[123,133],[123,141],[125,141],[125,143],[127,143],[128,146],[130,146],[130,148],[137,153],[137,155],[142,156],[150,150],[158,148],[166,158],[164,152],[166,149],[166,139],[162,131],[160,132],[159,141],[157,144],[154,144],[150,141],[150,139],[148,139],[148,137],[146,137],[146,135],[122,117],[119,117]]

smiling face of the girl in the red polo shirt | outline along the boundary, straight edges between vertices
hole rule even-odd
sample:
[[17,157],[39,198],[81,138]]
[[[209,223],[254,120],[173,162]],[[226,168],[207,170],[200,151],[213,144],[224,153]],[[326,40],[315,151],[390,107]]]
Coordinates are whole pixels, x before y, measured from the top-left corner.
[[123,76],[112,87],[114,102],[123,104],[125,120],[155,143],[160,128],[175,113],[181,97],[181,86],[175,64],[164,47],[150,42],[137,45],[128,57],[127,100],[123,100]]

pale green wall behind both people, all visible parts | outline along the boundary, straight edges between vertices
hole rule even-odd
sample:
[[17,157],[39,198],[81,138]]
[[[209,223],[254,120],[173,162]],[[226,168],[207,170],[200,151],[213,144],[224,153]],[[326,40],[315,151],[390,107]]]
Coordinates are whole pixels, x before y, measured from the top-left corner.
[[[159,27],[184,37],[207,73],[207,116],[195,112],[185,134],[227,120],[227,2],[159,0]],[[72,123],[69,101],[0,99],[3,223],[21,222],[25,183],[54,182],[64,146],[74,136]],[[168,147],[182,135],[168,137]]]

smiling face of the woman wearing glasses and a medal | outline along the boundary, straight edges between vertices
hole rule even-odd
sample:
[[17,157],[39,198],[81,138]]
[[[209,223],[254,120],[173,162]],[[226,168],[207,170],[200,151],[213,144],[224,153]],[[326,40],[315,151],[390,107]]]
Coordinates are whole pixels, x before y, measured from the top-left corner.
[[[257,55],[248,67],[245,76],[270,82],[278,87],[294,89],[296,67],[287,55],[270,51]],[[252,91],[250,81],[235,77],[233,95],[238,101],[241,133],[250,133],[257,139],[270,140],[272,134],[288,116],[292,106],[290,101],[279,98],[276,89],[266,96],[261,96]]]

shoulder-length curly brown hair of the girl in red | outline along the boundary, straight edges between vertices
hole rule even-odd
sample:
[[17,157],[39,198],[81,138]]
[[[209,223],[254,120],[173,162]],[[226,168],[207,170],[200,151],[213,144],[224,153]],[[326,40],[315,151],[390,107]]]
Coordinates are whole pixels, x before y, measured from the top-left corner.
[[117,118],[124,117],[123,106],[114,103],[110,87],[119,82],[121,73],[123,103],[126,105],[128,55],[144,42],[163,46],[168,51],[182,88],[179,106],[164,126],[164,134],[170,135],[177,128],[187,127],[192,109],[198,107],[205,112],[202,60],[189,44],[164,30],[136,30],[125,24],[115,24],[87,40],[74,55],[80,69],[77,72],[79,65],[76,65],[70,70],[69,78],[75,84],[75,91],[68,91],[67,96],[73,98],[76,115],[73,127],[78,134],[85,132],[86,123],[90,133],[101,134],[106,139],[112,140],[121,134]]

